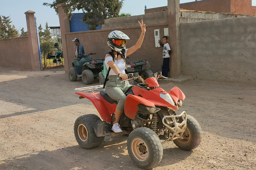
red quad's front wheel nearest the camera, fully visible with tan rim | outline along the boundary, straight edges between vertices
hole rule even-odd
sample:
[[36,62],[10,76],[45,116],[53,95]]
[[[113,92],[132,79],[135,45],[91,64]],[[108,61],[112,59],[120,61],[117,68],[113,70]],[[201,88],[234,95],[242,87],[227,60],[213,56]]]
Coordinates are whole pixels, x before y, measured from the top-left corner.
[[132,161],[140,168],[151,169],[162,160],[163,147],[157,134],[150,128],[136,128],[127,139]]

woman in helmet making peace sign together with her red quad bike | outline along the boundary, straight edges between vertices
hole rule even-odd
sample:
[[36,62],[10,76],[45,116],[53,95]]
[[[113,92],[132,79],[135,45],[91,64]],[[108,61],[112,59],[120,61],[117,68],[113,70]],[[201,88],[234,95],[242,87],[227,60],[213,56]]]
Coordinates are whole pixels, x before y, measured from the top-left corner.
[[[161,72],[143,79],[138,73],[125,74],[125,56],[136,51],[146,32],[142,33],[133,47],[125,49],[129,39],[120,31],[111,32],[108,44],[112,49],[105,57],[108,68],[106,89],[93,91],[104,85],[75,89],[80,99],[89,99],[99,112],[77,118],[74,133],[79,145],[85,149],[99,146],[105,136],[129,134],[127,149],[134,163],[143,169],[157,166],[163,157],[162,145],[168,141],[183,150],[196,148],[202,139],[199,123],[185,111],[176,113],[185,99],[184,93],[174,87],[169,92],[159,87],[158,78],[166,78]],[[111,71],[112,70],[112,71]],[[139,80],[139,85],[129,85],[129,80]],[[163,140],[161,142],[161,140]]]

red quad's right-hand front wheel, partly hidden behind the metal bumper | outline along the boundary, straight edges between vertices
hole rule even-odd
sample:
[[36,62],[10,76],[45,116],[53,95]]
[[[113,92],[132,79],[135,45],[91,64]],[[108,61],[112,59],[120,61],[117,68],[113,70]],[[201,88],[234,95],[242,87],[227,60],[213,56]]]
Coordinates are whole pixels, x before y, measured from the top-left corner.
[[182,137],[183,139],[173,140],[182,150],[195,149],[202,140],[202,129],[197,120],[190,115],[187,115],[187,128]]

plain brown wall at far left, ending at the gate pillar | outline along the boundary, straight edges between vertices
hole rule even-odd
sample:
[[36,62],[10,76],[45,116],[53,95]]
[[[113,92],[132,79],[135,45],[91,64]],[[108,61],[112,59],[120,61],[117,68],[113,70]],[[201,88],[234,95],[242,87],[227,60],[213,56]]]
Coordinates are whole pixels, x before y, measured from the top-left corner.
[[28,36],[0,40],[0,67],[32,70]]

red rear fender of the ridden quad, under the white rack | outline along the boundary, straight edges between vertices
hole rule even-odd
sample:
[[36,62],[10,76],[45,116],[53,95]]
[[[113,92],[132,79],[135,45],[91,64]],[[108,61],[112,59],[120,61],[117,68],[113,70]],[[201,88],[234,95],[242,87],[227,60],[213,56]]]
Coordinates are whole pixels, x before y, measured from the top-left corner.
[[108,122],[108,123],[111,123],[111,114],[109,113],[106,113],[108,112],[108,108],[104,105],[104,103],[102,102],[102,100],[97,97],[97,94],[98,93],[83,93],[83,92],[76,92],[75,94],[79,95],[79,96],[82,96],[86,99],[89,99],[93,105],[95,106],[95,108],[97,109],[97,111],[99,112],[100,114],[100,117]]

